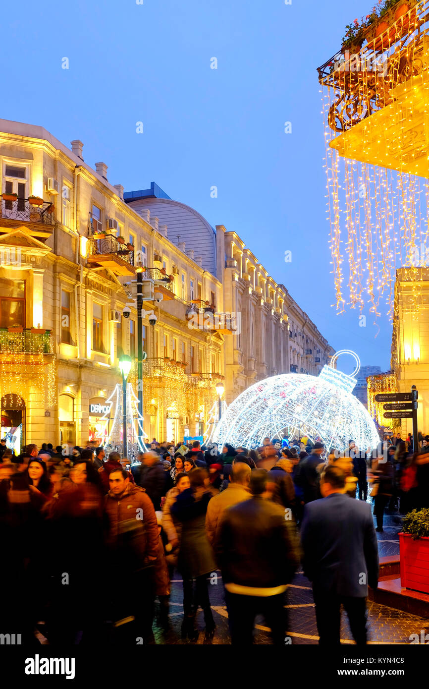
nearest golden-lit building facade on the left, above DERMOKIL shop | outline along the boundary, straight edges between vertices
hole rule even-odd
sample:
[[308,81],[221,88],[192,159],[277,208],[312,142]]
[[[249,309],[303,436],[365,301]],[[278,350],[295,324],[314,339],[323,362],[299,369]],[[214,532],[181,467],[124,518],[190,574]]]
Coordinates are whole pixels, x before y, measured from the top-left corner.
[[125,203],[105,163],[83,161],[81,141],[70,150],[43,127],[2,120],[0,170],[3,433],[21,428],[21,445],[106,439],[118,360],[136,358],[128,283],[141,264],[145,278],[165,280],[163,300],[143,304],[157,316],[154,327],[143,321],[145,435],[201,435],[222,380],[223,342],[189,329],[187,311],[201,306],[197,298],[222,308],[220,282],[169,241],[158,218]]

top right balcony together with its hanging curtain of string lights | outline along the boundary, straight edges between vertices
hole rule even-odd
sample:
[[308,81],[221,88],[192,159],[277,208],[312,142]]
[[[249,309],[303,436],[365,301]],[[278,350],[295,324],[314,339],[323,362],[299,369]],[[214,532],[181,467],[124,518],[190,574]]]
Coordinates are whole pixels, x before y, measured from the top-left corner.
[[429,208],[429,0],[379,6],[318,69],[336,307],[374,322],[393,318],[395,268],[425,265]]

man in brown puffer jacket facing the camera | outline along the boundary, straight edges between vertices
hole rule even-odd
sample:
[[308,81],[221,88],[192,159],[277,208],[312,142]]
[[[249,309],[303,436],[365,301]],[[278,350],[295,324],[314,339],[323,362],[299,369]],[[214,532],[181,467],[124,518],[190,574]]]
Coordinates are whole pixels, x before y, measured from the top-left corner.
[[[132,596],[115,596],[114,626],[121,639],[153,643],[155,575],[158,555],[158,524],[154,505],[145,489],[130,482],[122,467],[109,473],[105,496],[109,581],[131,587]],[[116,592],[117,593],[117,592]]]

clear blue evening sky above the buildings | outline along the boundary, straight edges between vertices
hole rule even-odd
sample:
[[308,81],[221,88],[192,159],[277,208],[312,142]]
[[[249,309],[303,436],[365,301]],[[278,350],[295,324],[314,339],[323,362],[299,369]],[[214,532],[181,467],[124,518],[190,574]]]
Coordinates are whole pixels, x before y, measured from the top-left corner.
[[234,230],[335,349],[387,370],[387,318],[379,331],[368,310],[359,327],[357,311],[337,316],[331,307],[316,72],[371,4],[23,0],[2,14],[11,81],[3,80],[1,116],[43,125],[66,145],[80,138],[85,162],[104,161],[113,184],[132,191],[154,180],[211,225]]

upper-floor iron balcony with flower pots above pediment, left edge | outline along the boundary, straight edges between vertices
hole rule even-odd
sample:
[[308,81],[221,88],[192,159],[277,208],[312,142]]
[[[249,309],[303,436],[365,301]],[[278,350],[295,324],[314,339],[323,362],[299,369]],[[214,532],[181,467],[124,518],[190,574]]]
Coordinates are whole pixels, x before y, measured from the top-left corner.
[[36,198],[34,202],[37,203],[30,203],[28,198],[19,198],[15,194],[3,194],[0,198],[0,232],[10,232],[23,223],[31,223],[33,236],[49,237],[55,224],[54,204]]

